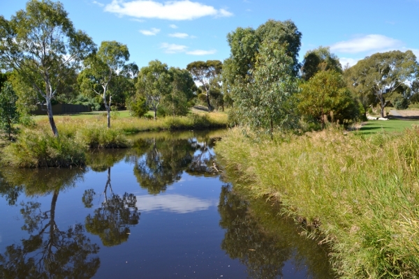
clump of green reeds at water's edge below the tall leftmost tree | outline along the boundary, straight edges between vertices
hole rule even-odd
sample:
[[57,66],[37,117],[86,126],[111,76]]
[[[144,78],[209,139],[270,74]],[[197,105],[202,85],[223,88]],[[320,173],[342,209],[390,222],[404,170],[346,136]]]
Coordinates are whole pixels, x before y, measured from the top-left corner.
[[22,130],[2,151],[2,161],[16,167],[70,167],[85,163],[86,146],[71,137],[53,137],[43,130]]

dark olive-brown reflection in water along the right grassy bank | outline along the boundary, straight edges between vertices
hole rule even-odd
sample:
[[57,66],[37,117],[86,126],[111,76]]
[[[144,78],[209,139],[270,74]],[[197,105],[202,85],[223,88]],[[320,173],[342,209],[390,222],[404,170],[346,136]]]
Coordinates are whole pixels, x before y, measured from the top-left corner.
[[[230,186],[223,186],[219,213],[226,234],[221,248],[247,267],[250,278],[282,278],[290,259],[297,271],[304,271],[301,278],[332,278],[326,252],[299,236],[295,225],[286,224],[277,212],[264,201],[246,202]],[[300,278],[297,273],[292,277]]]

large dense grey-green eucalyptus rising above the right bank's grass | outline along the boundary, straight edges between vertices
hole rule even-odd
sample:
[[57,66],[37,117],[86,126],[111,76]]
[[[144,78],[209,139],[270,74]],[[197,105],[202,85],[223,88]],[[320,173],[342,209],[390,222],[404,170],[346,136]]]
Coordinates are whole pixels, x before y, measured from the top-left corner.
[[301,33],[291,20],[269,20],[258,29],[241,27],[227,36],[223,91],[233,100],[235,123],[265,130],[295,123],[291,96],[297,91]]

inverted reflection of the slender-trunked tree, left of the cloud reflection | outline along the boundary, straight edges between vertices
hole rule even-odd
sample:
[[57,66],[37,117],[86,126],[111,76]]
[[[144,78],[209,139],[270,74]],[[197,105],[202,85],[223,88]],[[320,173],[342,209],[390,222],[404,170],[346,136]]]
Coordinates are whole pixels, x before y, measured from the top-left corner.
[[[84,206],[90,208],[95,195],[93,189],[84,191]],[[98,235],[104,246],[119,245],[128,240],[129,228],[137,225],[140,220],[140,212],[136,206],[137,198],[133,194],[124,193],[121,197],[113,193],[110,167],[103,196],[101,207],[94,210],[93,216],[89,214],[84,223],[87,232]]]

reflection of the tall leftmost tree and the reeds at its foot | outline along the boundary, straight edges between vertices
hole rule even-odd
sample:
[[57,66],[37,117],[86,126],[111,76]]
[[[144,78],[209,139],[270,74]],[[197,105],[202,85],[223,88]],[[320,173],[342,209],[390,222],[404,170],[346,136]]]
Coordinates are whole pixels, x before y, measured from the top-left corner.
[[[19,173],[17,173],[19,172]],[[24,172],[24,173],[22,173]],[[98,257],[90,257],[99,247],[90,242],[80,223],[61,229],[55,220],[55,210],[60,190],[75,185],[82,170],[9,172],[8,183],[24,186],[27,195],[52,194],[50,209],[43,211],[41,203],[21,204],[24,218],[23,230],[30,236],[22,243],[13,244],[0,255],[1,278],[91,278],[100,266]],[[60,173],[60,172],[58,172]],[[27,174],[27,175],[24,175]],[[45,174],[48,174],[45,176]],[[32,181],[38,177],[38,181]],[[13,180],[15,179],[15,180]],[[14,181],[14,182],[11,182]],[[17,184],[16,184],[17,183]]]

